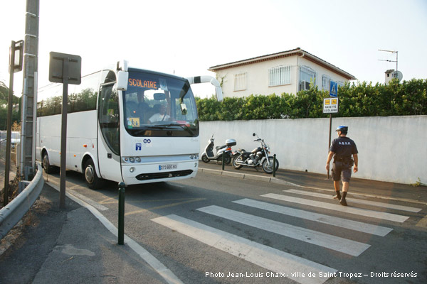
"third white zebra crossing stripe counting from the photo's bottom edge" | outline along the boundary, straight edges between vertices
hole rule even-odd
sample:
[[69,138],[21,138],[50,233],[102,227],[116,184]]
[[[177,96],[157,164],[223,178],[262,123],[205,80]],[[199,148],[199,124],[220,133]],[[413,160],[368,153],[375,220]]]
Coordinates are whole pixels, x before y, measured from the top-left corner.
[[390,229],[384,226],[377,226],[377,225],[357,222],[349,219],[333,217],[325,214],[308,212],[305,210],[294,209],[294,208],[285,207],[277,204],[271,204],[271,203],[262,202],[258,200],[250,200],[248,198],[245,198],[243,200],[236,200],[233,202],[237,204],[249,206],[249,207],[267,210],[270,212],[289,215],[292,217],[306,219],[314,222],[320,222],[322,224],[339,226],[341,228],[350,229],[353,231],[362,231],[363,233],[374,234],[376,236],[386,236],[386,234],[389,234],[389,232],[393,231],[393,229]]

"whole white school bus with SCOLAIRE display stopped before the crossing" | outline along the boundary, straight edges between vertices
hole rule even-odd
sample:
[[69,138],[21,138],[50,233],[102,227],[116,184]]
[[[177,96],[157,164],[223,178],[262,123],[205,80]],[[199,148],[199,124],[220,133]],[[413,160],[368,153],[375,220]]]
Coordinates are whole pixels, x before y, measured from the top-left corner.
[[[114,68],[113,68],[114,69]],[[135,185],[194,178],[199,166],[199,117],[191,84],[182,78],[127,67],[100,70],[68,86],[66,169],[83,173],[88,187],[103,180]],[[36,158],[46,173],[60,166],[62,84],[38,90]]]

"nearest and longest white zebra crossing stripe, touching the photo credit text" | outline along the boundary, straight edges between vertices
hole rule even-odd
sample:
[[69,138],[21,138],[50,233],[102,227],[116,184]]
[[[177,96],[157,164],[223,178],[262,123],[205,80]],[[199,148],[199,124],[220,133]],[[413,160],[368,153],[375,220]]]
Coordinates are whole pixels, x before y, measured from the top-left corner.
[[[323,266],[320,263],[315,263],[173,214],[158,217],[152,219],[152,221],[216,249],[230,253],[233,256],[243,258],[257,266],[268,269],[268,271],[283,273],[286,278],[295,280],[298,283],[322,284],[325,283],[329,276],[325,278],[310,278],[307,275],[309,273],[315,273],[316,276],[333,275],[334,272],[337,272],[336,269]],[[301,276],[301,273],[304,273],[305,277]]]

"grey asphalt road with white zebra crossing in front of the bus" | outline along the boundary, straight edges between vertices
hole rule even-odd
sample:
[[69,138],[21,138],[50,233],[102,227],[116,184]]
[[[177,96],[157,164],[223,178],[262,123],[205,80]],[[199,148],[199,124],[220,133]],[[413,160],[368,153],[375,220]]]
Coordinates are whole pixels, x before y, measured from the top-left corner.
[[[67,177],[117,227],[117,184],[94,191]],[[317,190],[199,173],[127,187],[125,234],[184,283],[426,283],[426,211],[355,197],[342,207]]]

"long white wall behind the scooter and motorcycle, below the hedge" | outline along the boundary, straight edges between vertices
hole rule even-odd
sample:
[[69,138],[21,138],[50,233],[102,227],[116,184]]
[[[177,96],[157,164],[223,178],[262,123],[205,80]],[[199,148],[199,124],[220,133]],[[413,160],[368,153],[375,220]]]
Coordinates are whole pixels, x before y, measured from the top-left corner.
[[[359,150],[359,172],[354,178],[427,184],[427,116],[385,116],[332,119],[335,129],[349,126],[348,136]],[[325,173],[329,150],[329,119],[272,119],[256,121],[201,121],[201,152],[214,134],[216,146],[234,138],[236,148],[251,151],[264,138],[280,168]]]

